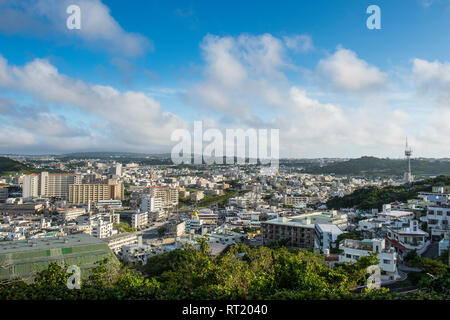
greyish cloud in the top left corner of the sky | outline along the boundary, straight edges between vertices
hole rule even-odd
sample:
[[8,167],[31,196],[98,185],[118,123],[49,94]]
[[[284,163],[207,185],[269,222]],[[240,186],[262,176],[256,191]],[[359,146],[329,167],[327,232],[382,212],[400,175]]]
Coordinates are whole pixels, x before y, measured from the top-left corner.
[[[80,7],[80,30],[66,27],[69,5]],[[153,49],[149,39],[125,31],[100,0],[5,0],[0,2],[0,32],[45,38],[63,35],[73,43],[81,40],[90,47],[126,56]]]

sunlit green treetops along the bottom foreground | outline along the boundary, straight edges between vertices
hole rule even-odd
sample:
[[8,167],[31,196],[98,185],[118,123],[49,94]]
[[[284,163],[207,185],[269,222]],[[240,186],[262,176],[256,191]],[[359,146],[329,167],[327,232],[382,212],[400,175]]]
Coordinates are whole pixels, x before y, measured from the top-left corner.
[[[198,248],[187,246],[149,259],[140,271],[110,269],[99,263],[70,290],[70,276],[57,264],[41,271],[32,284],[20,280],[0,283],[1,300],[126,300],[126,299],[448,299],[448,276],[428,281],[419,293],[396,295],[386,289],[352,289],[365,283],[375,255],[355,263],[329,267],[323,257],[285,247],[249,248],[236,245],[211,257],[206,239]],[[67,267],[67,266],[66,266]],[[448,270],[446,271],[448,272]],[[448,274],[448,273],[447,273]],[[446,276],[447,274],[443,274]]]

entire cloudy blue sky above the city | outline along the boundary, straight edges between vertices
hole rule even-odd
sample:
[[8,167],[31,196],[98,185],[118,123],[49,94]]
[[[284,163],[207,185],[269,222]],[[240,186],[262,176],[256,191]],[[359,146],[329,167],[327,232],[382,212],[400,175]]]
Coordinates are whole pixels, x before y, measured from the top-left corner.
[[202,120],[279,128],[282,156],[449,157],[448,30],[448,0],[3,0],[0,153],[167,152]]

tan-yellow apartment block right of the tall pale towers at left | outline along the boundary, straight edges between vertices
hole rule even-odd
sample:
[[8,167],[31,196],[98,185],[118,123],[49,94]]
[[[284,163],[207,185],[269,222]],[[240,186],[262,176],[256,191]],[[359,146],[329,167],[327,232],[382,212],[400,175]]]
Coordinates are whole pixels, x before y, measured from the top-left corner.
[[110,179],[102,184],[73,184],[69,186],[69,202],[74,204],[98,203],[103,200],[123,200],[124,186]]

